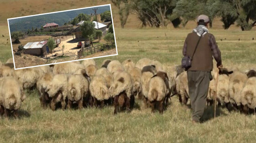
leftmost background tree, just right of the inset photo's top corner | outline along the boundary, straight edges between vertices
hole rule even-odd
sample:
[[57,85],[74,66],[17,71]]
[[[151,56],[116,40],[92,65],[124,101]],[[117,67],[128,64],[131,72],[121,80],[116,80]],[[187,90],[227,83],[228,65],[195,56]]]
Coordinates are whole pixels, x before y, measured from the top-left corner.
[[121,28],[124,28],[128,16],[130,14],[130,0],[111,0],[111,2],[118,8],[119,20],[121,22]]

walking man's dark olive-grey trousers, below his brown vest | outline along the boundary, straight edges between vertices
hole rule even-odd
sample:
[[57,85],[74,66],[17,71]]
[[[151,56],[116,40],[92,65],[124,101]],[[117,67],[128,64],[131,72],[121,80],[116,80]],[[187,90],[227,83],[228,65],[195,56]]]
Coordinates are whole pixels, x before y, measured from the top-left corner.
[[204,114],[211,73],[207,71],[187,71],[187,74],[188,92],[193,110],[192,119],[199,121]]

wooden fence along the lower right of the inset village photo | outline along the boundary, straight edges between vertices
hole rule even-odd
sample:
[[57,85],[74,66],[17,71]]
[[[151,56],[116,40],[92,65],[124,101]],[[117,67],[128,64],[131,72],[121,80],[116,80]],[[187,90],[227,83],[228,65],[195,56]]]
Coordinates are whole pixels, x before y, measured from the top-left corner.
[[[102,44],[102,45],[98,45],[95,47],[91,47],[89,45],[89,47],[84,48],[84,45],[82,45],[82,48],[77,52],[78,57],[76,59],[80,59],[82,56],[86,56],[87,55],[92,55],[95,54],[99,51],[105,51],[105,50],[109,50],[116,47],[115,43],[106,43],[106,44]],[[85,53],[85,54],[84,54]]]

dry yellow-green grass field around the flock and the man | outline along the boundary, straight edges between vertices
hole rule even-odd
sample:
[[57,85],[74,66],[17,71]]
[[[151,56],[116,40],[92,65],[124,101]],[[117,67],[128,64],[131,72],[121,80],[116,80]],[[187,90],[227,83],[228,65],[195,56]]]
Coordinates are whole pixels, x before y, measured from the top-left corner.
[[[5,62],[12,57],[5,17],[22,16],[22,13],[17,12],[25,6],[25,3],[30,9],[25,15],[110,3],[96,0],[95,3],[90,1],[88,5],[81,6],[84,2],[82,0],[78,2],[64,0],[65,4],[49,6],[47,3],[49,0],[46,0],[46,6],[49,7],[43,9],[40,6],[42,1],[37,1],[30,4],[28,0],[24,0],[23,4],[17,0],[10,0],[8,3],[0,4],[0,8],[3,8],[0,12],[3,16],[0,19],[2,24],[0,34],[5,36],[0,36],[0,61]],[[12,4],[13,12],[10,12],[7,8]],[[33,6],[36,7],[32,8]],[[112,7],[112,10],[114,16],[117,16],[115,7]],[[190,22],[185,29],[172,29],[172,27],[136,29],[139,22],[133,20],[136,20],[134,15],[125,26],[128,28],[120,29],[118,18],[114,18],[118,55],[95,59],[98,65],[104,59],[117,59],[122,62],[130,58],[136,62],[143,57],[160,61],[166,70],[172,65],[180,64],[184,39],[195,26],[194,22]],[[243,71],[256,68],[256,40],[252,41],[252,37],[256,39],[255,28],[252,31],[242,32],[235,26],[229,30],[222,30],[221,25],[221,22],[216,21],[210,33],[216,37],[224,67],[236,66]],[[6,43],[7,38],[8,43]],[[228,112],[226,109],[218,108],[218,117],[213,119],[213,107],[208,107],[203,116],[204,123],[193,125],[190,121],[190,108],[181,106],[176,96],[172,98],[171,105],[163,115],[157,112],[151,113],[149,109],[140,109],[141,106],[142,102],[136,100],[136,108],[131,113],[120,113],[115,116],[114,107],[52,112],[50,109],[44,110],[40,107],[36,90],[28,91],[20,109],[20,119],[0,117],[0,143],[253,143],[256,141],[256,116],[253,115]]]

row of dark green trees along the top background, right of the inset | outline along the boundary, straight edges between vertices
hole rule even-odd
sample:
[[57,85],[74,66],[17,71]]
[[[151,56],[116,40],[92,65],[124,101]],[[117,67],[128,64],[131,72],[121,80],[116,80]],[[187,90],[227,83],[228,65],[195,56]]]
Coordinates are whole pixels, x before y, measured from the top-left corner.
[[256,26],[256,0],[111,0],[118,8],[121,27],[124,28],[129,14],[136,14],[142,27],[176,28],[195,20],[200,14],[208,15],[210,27],[220,17],[224,29],[237,24],[242,31]]

